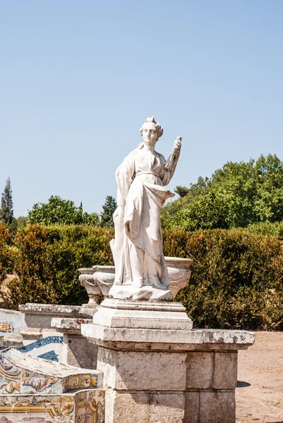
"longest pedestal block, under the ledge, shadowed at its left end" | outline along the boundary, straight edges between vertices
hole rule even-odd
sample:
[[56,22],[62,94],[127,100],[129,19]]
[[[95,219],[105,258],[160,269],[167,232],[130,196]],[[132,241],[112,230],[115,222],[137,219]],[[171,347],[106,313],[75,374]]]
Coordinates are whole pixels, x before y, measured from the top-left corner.
[[104,384],[114,389],[183,391],[185,353],[141,353],[98,348],[97,369]]

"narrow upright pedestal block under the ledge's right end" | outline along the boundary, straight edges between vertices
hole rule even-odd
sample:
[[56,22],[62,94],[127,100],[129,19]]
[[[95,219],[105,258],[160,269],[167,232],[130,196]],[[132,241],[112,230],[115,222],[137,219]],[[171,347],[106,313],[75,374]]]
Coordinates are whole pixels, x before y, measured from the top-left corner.
[[215,353],[214,389],[235,389],[237,384],[237,353]]

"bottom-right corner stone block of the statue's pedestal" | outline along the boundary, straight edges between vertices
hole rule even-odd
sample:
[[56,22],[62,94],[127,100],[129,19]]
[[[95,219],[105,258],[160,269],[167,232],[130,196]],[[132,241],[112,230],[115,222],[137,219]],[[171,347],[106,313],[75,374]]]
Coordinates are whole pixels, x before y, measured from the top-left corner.
[[198,423],[234,423],[235,392],[200,392],[200,415]]

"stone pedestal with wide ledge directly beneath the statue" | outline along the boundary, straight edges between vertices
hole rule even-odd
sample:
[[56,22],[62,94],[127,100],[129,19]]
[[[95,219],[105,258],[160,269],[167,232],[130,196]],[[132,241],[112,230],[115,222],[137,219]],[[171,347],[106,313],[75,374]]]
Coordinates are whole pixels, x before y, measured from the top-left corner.
[[105,423],[233,423],[248,331],[192,330],[176,302],[104,300],[82,333],[98,345]]

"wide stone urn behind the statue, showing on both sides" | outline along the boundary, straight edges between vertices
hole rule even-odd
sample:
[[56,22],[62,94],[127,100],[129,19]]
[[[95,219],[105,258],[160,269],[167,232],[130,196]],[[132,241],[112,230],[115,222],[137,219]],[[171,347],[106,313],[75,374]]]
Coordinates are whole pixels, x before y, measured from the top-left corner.
[[[190,266],[192,259],[181,259],[179,257],[165,257],[169,274],[169,290],[176,297],[179,290],[188,285],[191,277]],[[80,271],[79,281],[88,293],[89,302],[85,307],[97,307],[100,295],[109,297],[109,290],[114,283],[115,266],[92,266],[90,268],[78,269]]]

